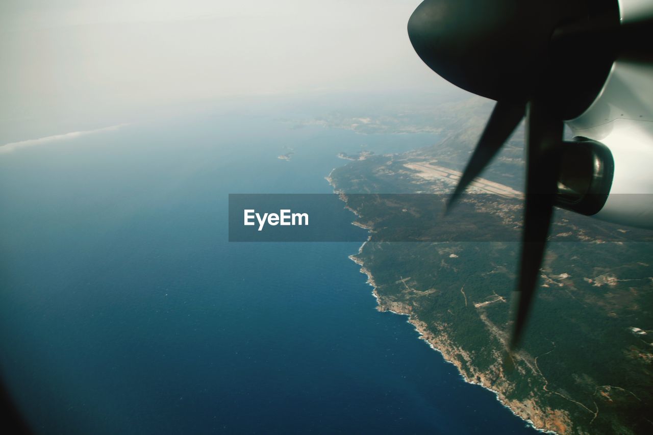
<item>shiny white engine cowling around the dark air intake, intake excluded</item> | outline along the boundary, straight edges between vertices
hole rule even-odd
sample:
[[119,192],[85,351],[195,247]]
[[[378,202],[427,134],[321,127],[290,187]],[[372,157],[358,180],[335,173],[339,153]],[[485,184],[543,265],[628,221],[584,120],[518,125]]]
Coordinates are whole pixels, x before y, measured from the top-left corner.
[[[622,23],[653,16],[653,2],[621,0],[620,14]],[[617,59],[594,103],[565,123],[575,137],[605,145],[613,160],[605,203],[585,214],[653,229],[653,65]],[[603,162],[603,169],[610,169],[609,165],[609,161]],[[561,176],[565,176],[564,162]],[[564,185],[560,187],[564,192]],[[565,208],[573,210],[573,205]]]

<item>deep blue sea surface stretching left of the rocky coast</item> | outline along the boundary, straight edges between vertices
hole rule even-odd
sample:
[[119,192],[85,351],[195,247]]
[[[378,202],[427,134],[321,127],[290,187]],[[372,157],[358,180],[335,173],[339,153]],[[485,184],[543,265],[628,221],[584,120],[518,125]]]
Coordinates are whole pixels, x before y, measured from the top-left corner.
[[0,155],[0,364],[33,428],[533,433],[375,310],[358,244],[227,242],[229,193],[330,193],[338,152],[438,140],[278,118],[205,111]]

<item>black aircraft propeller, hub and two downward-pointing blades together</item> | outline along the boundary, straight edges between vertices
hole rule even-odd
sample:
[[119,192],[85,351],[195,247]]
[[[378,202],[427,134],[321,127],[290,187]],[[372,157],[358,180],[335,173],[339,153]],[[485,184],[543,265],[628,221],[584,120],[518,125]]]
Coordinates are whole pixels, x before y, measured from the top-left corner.
[[520,344],[545,253],[564,120],[584,112],[603,88],[620,52],[619,18],[617,0],[425,0],[408,22],[411,43],[428,67],[497,101],[447,210],[526,112],[526,205],[511,351]]

